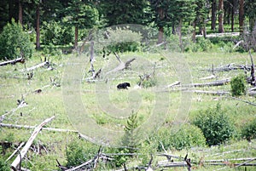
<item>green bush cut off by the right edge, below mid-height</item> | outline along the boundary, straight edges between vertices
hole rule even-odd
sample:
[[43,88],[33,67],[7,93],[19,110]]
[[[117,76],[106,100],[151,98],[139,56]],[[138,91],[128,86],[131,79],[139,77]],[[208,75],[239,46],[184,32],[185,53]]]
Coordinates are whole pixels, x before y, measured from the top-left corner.
[[241,129],[241,136],[247,140],[256,139],[256,118]]

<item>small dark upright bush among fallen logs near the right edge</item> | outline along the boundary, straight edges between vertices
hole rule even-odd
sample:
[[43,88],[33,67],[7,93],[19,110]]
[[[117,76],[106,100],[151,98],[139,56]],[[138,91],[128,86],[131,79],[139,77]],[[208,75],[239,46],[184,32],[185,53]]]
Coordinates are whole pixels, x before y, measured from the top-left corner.
[[230,82],[231,93],[233,96],[246,94],[246,80],[244,75],[233,77]]

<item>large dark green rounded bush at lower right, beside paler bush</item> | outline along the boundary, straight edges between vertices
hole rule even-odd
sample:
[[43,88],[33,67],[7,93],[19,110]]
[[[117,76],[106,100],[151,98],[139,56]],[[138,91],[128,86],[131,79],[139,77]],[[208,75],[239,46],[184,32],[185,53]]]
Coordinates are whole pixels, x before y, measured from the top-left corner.
[[200,111],[192,123],[201,128],[202,133],[207,139],[207,145],[224,143],[226,140],[230,140],[234,132],[230,118],[221,109],[219,104],[215,108]]

